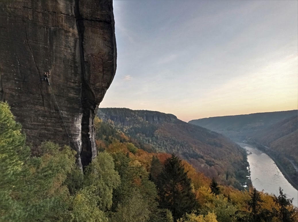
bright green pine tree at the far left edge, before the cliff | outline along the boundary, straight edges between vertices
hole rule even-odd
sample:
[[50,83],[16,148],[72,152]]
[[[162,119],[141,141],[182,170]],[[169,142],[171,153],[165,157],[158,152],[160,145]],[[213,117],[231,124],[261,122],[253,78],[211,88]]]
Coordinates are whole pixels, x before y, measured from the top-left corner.
[[21,125],[9,105],[0,102],[0,221],[18,221],[24,216],[22,204],[13,196],[29,173],[23,167],[29,155]]

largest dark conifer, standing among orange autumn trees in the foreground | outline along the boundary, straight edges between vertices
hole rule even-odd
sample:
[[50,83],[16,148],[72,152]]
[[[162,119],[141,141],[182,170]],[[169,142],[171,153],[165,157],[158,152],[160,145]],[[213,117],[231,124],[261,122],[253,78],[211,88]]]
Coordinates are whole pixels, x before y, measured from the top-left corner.
[[190,213],[197,206],[190,179],[187,177],[187,172],[184,172],[181,160],[176,155],[173,154],[165,161],[157,184],[159,205],[172,212],[174,221],[185,213]]

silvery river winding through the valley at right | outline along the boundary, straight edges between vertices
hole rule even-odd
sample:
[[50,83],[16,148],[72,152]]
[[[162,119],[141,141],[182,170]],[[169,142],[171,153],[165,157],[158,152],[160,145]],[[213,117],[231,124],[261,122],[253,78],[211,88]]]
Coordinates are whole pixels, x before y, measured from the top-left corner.
[[275,195],[279,194],[278,188],[281,187],[288,198],[294,198],[293,205],[298,206],[298,190],[286,180],[274,161],[252,145],[238,144],[246,149],[252,185],[259,191]]

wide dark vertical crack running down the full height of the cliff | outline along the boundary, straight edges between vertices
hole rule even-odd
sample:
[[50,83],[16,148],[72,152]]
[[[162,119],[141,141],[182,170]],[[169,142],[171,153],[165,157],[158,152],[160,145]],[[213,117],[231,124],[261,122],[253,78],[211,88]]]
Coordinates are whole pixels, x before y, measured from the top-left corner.
[[75,0],[75,18],[77,24],[77,32],[79,35],[79,49],[80,49],[80,61],[81,61],[81,76],[82,76],[82,89],[81,89],[81,104],[82,104],[82,122],[81,122],[81,139],[82,150],[80,152],[80,159],[83,169],[88,166],[92,160],[92,145],[90,128],[93,121],[93,110],[96,108],[95,97],[91,91],[88,78],[85,69],[85,57],[84,57],[84,19],[80,14],[79,8],[80,0]]

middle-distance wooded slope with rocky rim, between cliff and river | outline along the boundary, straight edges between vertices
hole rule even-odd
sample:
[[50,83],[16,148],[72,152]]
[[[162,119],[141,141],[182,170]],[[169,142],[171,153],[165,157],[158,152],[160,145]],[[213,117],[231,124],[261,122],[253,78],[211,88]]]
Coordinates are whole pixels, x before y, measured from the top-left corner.
[[148,110],[100,108],[98,116],[148,152],[175,153],[209,178],[238,189],[249,183],[245,150],[216,132]]

